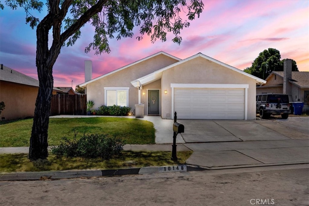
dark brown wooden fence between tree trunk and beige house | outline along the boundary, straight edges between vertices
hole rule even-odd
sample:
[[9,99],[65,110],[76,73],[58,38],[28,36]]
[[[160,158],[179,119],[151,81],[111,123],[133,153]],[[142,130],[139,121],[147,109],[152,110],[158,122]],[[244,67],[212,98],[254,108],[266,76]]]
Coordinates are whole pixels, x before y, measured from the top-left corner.
[[87,115],[87,95],[53,95],[50,103],[50,116]]

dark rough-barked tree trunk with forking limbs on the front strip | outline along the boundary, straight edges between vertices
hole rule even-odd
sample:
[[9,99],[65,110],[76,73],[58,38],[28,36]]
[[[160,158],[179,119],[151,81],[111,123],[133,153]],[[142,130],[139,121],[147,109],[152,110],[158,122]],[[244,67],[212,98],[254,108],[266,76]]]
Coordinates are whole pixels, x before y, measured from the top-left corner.
[[[63,43],[82,27],[91,16],[102,11],[107,2],[98,1],[88,9],[74,24],[65,32],[61,32],[61,22],[71,5],[70,0],[62,2],[49,0],[49,13],[36,27],[36,68],[39,78],[39,92],[36,98],[36,109],[34,111],[32,132],[30,137],[29,159],[46,159],[48,157],[48,124],[50,113],[50,101],[53,95],[53,65],[60,53]],[[53,43],[48,47],[49,30],[53,31]]]

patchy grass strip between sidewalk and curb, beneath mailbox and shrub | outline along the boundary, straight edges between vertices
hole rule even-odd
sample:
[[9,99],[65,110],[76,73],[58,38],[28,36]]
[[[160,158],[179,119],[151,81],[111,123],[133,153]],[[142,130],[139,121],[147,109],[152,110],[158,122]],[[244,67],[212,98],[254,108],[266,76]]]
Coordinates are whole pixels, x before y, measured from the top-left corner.
[[1,172],[28,172],[76,169],[119,169],[129,167],[166,166],[184,164],[192,151],[177,152],[178,161],[171,160],[171,152],[122,151],[110,160],[102,158],[67,158],[49,155],[47,160],[30,162],[28,154],[1,154]]

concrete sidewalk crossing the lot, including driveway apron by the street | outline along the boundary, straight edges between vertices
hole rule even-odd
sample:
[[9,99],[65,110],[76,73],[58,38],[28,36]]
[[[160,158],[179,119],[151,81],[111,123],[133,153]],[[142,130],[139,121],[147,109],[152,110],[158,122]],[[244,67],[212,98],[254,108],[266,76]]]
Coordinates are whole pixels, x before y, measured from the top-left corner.
[[[307,139],[177,144],[177,151],[193,151],[187,165],[205,169],[309,163]],[[170,144],[125,145],[124,150],[171,151]],[[1,147],[0,154],[28,153],[28,147]]]

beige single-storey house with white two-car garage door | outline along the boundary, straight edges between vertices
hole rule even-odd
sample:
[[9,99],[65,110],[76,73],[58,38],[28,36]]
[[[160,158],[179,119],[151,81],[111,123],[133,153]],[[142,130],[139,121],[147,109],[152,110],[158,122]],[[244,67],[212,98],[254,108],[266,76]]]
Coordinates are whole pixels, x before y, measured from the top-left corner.
[[[91,65],[91,64],[90,64]],[[91,79],[85,61],[87,100],[173,119],[256,119],[256,85],[265,80],[198,53],[181,60],[155,53]],[[88,79],[87,79],[88,78]]]

